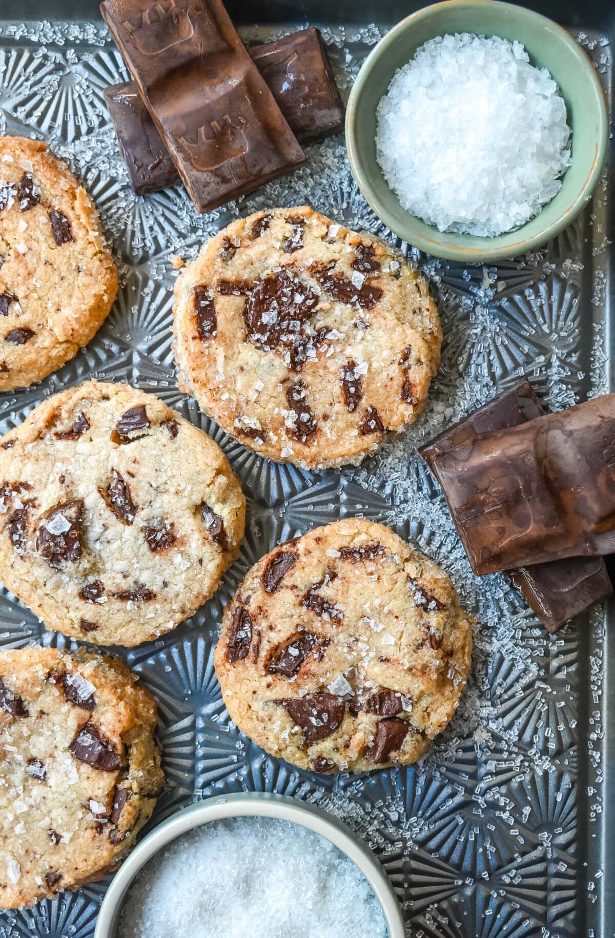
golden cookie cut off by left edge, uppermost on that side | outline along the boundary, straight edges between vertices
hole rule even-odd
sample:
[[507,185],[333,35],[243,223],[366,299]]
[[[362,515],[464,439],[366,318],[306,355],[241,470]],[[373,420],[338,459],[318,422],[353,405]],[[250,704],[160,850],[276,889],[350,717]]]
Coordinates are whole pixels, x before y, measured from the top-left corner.
[[74,357],[117,294],[98,212],[45,144],[0,137],[0,391]]

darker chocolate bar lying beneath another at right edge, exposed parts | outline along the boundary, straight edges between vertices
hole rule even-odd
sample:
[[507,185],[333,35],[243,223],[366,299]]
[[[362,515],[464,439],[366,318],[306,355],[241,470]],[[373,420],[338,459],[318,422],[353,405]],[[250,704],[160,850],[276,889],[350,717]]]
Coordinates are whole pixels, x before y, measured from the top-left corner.
[[[523,381],[441,433],[421,449],[421,455],[429,467],[434,468],[433,462],[438,454],[472,441],[479,433],[506,430],[543,414],[543,406],[530,382]],[[436,468],[434,473],[437,475]],[[613,592],[601,557],[555,560],[510,570],[508,575],[549,632],[556,632],[570,619],[590,609],[596,602],[602,602]]]

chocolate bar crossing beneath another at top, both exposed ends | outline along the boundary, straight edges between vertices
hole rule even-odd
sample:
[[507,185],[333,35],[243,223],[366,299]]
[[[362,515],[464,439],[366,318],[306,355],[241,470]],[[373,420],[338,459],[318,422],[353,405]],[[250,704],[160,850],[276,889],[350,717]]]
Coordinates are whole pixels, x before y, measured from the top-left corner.
[[[297,140],[344,128],[344,109],[318,29],[248,49]],[[134,82],[105,90],[120,151],[138,195],[175,186],[179,175]]]

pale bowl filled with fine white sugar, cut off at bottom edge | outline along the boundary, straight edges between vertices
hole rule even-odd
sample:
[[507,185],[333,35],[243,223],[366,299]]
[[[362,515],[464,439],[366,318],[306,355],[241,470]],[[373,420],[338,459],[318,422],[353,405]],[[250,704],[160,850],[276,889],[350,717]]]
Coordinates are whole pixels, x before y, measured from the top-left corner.
[[115,875],[95,938],[404,938],[376,857],[278,794],[210,798],[158,825]]

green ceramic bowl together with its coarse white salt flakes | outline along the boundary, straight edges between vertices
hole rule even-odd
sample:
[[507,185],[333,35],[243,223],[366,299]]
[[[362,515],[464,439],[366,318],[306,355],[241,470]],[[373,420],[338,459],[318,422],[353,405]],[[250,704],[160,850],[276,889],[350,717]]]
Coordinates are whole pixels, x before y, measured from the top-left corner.
[[[498,104],[490,116],[484,99],[472,102],[475,112],[465,101],[463,107],[455,106],[458,85],[463,84],[467,75],[460,77],[457,83],[453,75],[448,78],[444,75],[439,88],[437,82],[426,81],[424,74],[408,76],[408,81],[404,79],[404,69],[408,74],[409,63],[426,43],[428,50],[438,52],[442,38],[451,45],[460,45],[464,44],[458,41],[461,36],[465,37],[466,48],[460,57],[465,55],[469,60],[473,54],[479,56],[484,52],[477,49],[474,53],[472,36],[507,40],[510,68],[508,64],[501,63],[493,69],[494,74],[499,72],[502,76],[505,94],[488,96],[488,104]],[[436,38],[441,39],[434,47]],[[522,58],[526,52],[530,60],[527,64]],[[442,62],[435,61],[435,54],[432,57],[434,69],[450,68],[452,55],[441,56],[446,59]],[[548,76],[536,70],[544,68]],[[476,67],[473,71],[478,79],[479,69]],[[513,71],[516,74],[513,75]],[[389,89],[394,77],[396,81],[391,95]],[[451,88],[451,99],[443,102],[447,83]],[[480,81],[475,83],[478,86]],[[399,94],[400,84],[402,94]],[[550,122],[549,133],[537,143],[536,136],[540,135],[533,129],[528,129],[527,133],[519,132],[523,127],[523,114],[516,97],[517,86],[522,97],[527,99],[528,118],[532,114],[535,124],[536,116],[542,120],[544,115],[546,123]],[[413,114],[413,120],[403,126],[403,122],[397,125],[391,115],[396,113],[403,92],[412,87],[419,101],[418,104],[414,100],[409,101],[406,111]],[[560,92],[562,98],[559,97]],[[433,99],[434,112],[425,110],[425,98],[429,96]],[[511,104],[507,112],[504,101],[509,98]],[[562,115],[564,106],[565,114]],[[421,108],[426,115],[425,123],[431,128],[430,140],[438,137],[440,144],[446,140],[457,142],[442,154],[442,159],[434,159],[433,166],[424,164],[422,168],[420,159],[406,159],[403,153],[397,152],[403,149],[402,138],[409,147],[425,138],[426,128],[415,127],[416,115],[421,113]],[[495,171],[495,162],[500,159],[500,154],[489,166],[488,153],[476,153],[476,162],[482,162],[486,167],[488,181],[480,174],[476,176],[475,172],[474,175],[467,172],[467,159],[463,171],[460,164],[465,158],[462,154],[456,162],[456,151],[463,148],[466,139],[463,128],[455,123],[460,119],[460,112],[468,127],[467,141],[475,138],[476,146],[485,141],[488,143],[489,139],[493,141],[494,147],[503,153],[503,159],[511,167],[510,174]],[[448,124],[443,124],[444,114],[447,115],[446,121],[452,124],[450,132]],[[388,129],[385,127],[387,119]],[[487,121],[489,123],[485,126]],[[572,130],[571,150],[566,121]],[[482,133],[479,132],[481,124]],[[514,257],[559,234],[591,198],[607,156],[607,132],[607,106],[599,77],[577,42],[546,17],[497,0],[488,3],[484,0],[448,0],[419,10],[398,23],[361,68],[346,115],[346,141],[354,178],[380,219],[409,244],[438,257],[466,263]],[[507,133],[510,140],[506,138]],[[519,137],[523,137],[523,141],[516,159],[514,149]],[[524,192],[526,166],[532,169],[534,177],[544,169],[543,178],[528,187],[531,197],[528,200]],[[474,171],[475,168],[472,164]],[[468,187],[465,195],[459,192],[464,181]],[[423,192],[417,191],[421,186]],[[499,187],[500,193],[491,193],[492,187]],[[397,194],[394,189],[397,189]],[[502,212],[498,211],[499,195],[502,196]],[[426,214],[430,214],[431,223],[408,210],[414,206],[422,209],[427,206]],[[464,223],[466,208],[473,213],[474,219],[480,219],[478,224]],[[480,218],[481,213],[483,218]],[[524,220],[526,218],[529,220]],[[483,220],[485,224],[482,224]],[[482,234],[477,234],[481,230]],[[473,231],[473,234],[468,234],[468,231]],[[491,236],[493,234],[495,236]]]

